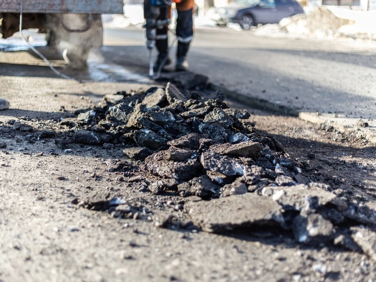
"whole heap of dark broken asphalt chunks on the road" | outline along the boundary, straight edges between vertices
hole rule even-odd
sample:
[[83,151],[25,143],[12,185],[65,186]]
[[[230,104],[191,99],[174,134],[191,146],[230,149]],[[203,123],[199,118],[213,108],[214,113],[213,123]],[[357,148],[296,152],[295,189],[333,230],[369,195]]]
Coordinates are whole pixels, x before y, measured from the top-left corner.
[[[175,212],[153,216],[108,192],[72,203],[161,228],[283,233],[301,244],[336,244],[375,256],[362,234],[373,233],[376,214],[332,193],[308,163],[291,158],[277,140],[257,131],[246,110],[230,108],[224,99],[220,90],[204,94],[168,83],[106,95],[77,118],[60,121],[66,130],[56,138],[58,147],[123,148],[123,158],[107,162],[109,171],[121,173],[124,189],[165,197]],[[25,128],[30,131],[13,124],[14,130]],[[34,133],[38,140],[52,136]]]

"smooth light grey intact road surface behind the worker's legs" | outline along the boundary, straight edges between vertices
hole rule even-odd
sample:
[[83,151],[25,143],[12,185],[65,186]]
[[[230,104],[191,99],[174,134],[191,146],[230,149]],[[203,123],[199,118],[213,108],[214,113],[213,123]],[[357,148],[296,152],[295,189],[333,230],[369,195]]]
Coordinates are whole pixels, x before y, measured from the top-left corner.
[[[147,75],[144,37],[143,29],[106,29],[104,50],[118,48],[114,62]],[[374,118],[375,47],[354,40],[259,37],[252,31],[208,28],[195,30],[189,61],[193,72],[235,93],[298,111]]]

